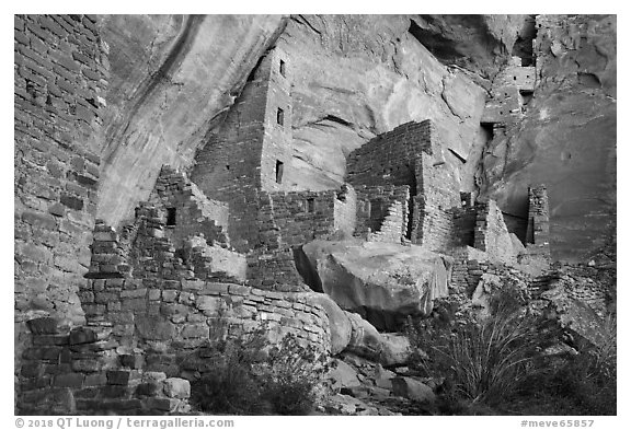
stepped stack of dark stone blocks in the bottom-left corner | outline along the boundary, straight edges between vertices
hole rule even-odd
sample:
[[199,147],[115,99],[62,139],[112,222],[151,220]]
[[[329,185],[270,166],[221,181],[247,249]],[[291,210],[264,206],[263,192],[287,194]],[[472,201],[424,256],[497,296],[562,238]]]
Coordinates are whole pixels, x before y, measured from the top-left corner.
[[108,330],[71,327],[64,319],[30,323],[21,415],[165,415],[190,411],[190,382],[146,372],[119,355]]

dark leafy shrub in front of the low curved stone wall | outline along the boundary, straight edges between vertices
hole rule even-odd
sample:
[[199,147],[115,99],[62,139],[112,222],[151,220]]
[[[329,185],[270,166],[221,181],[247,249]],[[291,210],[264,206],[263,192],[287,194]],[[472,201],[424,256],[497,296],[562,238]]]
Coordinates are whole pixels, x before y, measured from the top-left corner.
[[[220,333],[220,330],[218,330]],[[328,357],[287,334],[277,345],[266,327],[233,339],[213,339],[205,356],[210,370],[192,384],[202,410],[229,415],[306,415],[328,371]]]

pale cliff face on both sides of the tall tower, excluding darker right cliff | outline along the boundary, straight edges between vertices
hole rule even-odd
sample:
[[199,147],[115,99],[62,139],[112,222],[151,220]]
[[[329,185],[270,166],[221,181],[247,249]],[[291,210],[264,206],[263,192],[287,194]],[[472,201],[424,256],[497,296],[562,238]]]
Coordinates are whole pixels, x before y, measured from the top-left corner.
[[[162,164],[190,166],[275,43],[290,56],[295,77],[287,172],[294,188],[337,187],[353,149],[402,123],[432,118],[454,151],[447,161],[471,189],[485,142],[479,119],[487,82],[438,61],[413,34],[412,20],[418,18],[103,16],[112,78],[97,216],[118,223],[148,196]],[[461,43],[483,34],[478,39],[493,43],[478,46],[478,57],[500,62],[517,26],[504,28],[506,18],[482,21],[462,22],[450,35]]]

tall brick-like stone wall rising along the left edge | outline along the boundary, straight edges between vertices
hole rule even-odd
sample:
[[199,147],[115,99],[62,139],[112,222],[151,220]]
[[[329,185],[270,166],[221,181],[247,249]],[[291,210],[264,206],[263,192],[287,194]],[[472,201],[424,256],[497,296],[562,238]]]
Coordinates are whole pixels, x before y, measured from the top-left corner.
[[24,322],[83,319],[107,47],[92,15],[14,15],[15,371]]

